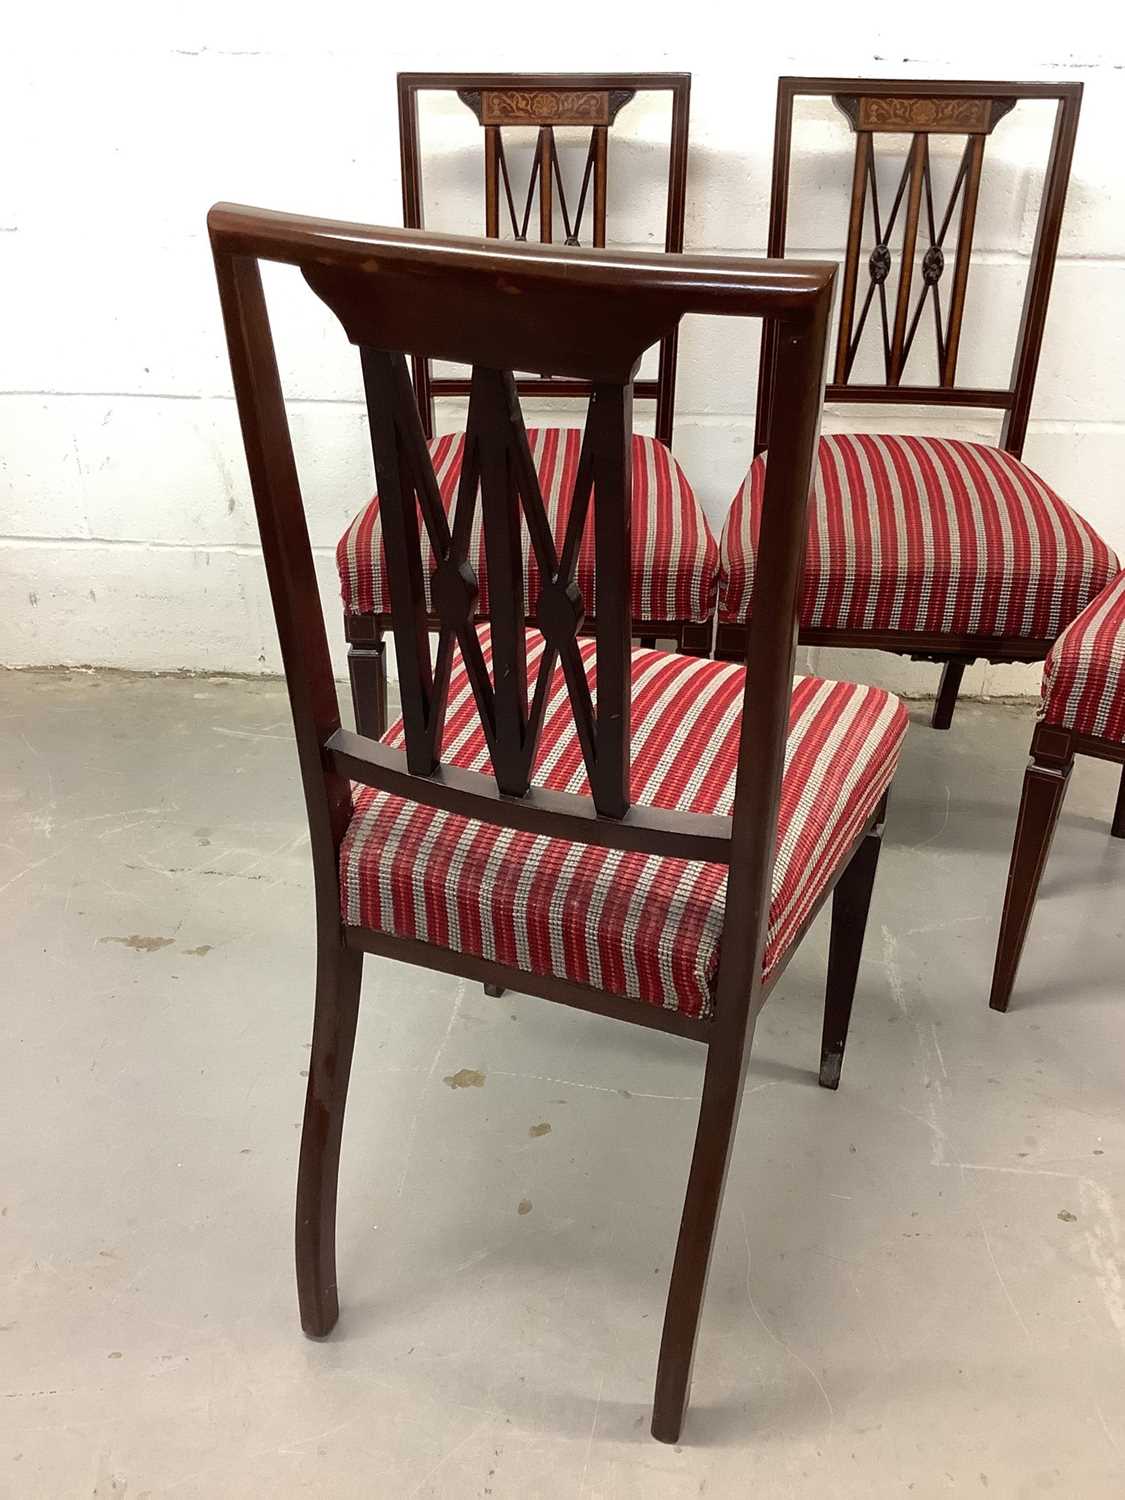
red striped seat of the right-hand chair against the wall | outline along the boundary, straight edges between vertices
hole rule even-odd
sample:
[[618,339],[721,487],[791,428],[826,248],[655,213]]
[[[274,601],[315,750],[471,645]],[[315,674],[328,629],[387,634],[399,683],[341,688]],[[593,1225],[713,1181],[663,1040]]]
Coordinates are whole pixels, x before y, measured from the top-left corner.
[[[720,540],[720,620],[750,618],[765,454]],[[1000,448],[820,438],[800,618],[818,630],[1053,640],[1118,570],[1082,516]]]

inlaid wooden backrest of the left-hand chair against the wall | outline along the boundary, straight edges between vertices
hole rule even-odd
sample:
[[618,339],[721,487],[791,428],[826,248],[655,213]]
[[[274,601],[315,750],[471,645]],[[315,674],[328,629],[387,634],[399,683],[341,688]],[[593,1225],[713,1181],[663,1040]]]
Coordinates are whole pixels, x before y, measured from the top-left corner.
[[[561,240],[570,246],[603,248],[610,130],[621,110],[638,93],[666,93],[672,112],[664,249],[682,250],[690,90],[690,74],[399,74],[404,224],[416,230],[424,225],[418,96],[454,92],[483,132],[484,234],[518,242],[538,238],[542,244]],[[518,128],[537,132],[525,180],[520,180],[510,144],[506,144]],[[582,141],[582,165],[573,177],[564,171],[556,130],[578,132]],[[672,442],[675,376],[676,336],[669,333],[660,340],[656,378],[634,382],[634,396],[657,404],[656,435],[664,446]],[[414,384],[428,436],[434,434],[434,399],[470,394],[468,380],[435,376],[429,360],[420,357],[414,362]],[[520,394],[537,399],[588,394],[586,382],[560,370],[520,380],[518,388]]]

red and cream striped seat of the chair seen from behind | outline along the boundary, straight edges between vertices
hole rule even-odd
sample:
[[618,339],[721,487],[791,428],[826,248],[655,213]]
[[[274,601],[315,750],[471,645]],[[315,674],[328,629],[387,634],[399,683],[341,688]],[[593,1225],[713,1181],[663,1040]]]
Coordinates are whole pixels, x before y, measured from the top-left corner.
[[[486,658],[488,627],[480,627]],[[592,640],[582,657],[594,684]],[[528,632],[530,670],[543,650]],[[633,800],[729,814],[744,669],[633,652]],[[798,678],[789,716],[765,972],[782,962],[886,790],[906,714],[897,698]],[[387,741],[402,744],[402,722]],[[442,760],[489,771],[460,662],[450,686]],[[590,790],[561,670],[534,782]],[[726,868],[622,854],[496,828],[362,789],[340,850],[345,922],[417,938],[531,974],[590,984],[648,1005],[708,1016],[723,930]],[[736,934],[742,936],[742,934]]]

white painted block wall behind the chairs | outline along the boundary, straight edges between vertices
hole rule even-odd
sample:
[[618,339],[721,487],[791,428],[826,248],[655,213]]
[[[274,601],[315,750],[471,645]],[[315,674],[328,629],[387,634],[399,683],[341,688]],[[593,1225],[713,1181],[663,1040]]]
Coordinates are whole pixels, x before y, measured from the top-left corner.
[[[885,14],[884,14],[885,12]],[[400,68],[693,74],[687,243],[760,254],[782,72],[1083,80],[1086,102],[1030,436],[1030,464],[1125,552],[1125,36],[1119,8],[980,4],[566,8],[326,0],[21,8],[0,129],[0,662],[276,670],[278,652],[222,344],[204,214],[216,198],[399,222]],[[1114,14],[1116,12],[1116,14]],[[1011,33],[1011,34],[1010,34]],[[790,246],[840,252],[848,130],[808,108]],[[656,182],[666,118],[621,116],[610,192]],[[1023,105],[988,147],[963,376],[1006,380],[1046,150]],[[480,222],[478,134],[426,116],[432,226]],[[616,136],[615,136],[616,140]],[[1032,165],[1034,164],[1034,165]],[[804,190],[800,190],[804,183]],[[626,206],[627,208],[627,206]],[[614,202],[610,200],[610,214]],[[610,225],[614,218],[610,216]],[[622,220],[618,208],[618,228]],[[624,236],[660,243],[658,213]],[[270,278],[330,632],[333,544],[369,494],[358,370],[330,315]],[[686,324],[675,450],[716,530],[750,458],[754,326]],[[870,424],[832,411],[828,426]],[[902,426],[896,414],[880,418]],[[915,418],[916,420],[916,418]],[[458,412],[442,412],[456,426]],[[927,417],[996,432],[987,417]],[[340,656],[342,662],[342,656]],[[900,688],[933,668],[820,654]],[[978,668],[970,690],[1034,690]]]

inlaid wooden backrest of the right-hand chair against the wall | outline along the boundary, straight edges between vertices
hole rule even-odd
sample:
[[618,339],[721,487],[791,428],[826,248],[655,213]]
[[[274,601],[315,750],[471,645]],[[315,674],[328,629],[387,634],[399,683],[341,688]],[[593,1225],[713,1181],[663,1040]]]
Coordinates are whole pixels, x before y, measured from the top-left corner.
[[[770,255],[786,252],[794,105],[806,96],[831,98],[855,134],[838,328],[826,399],[1002,411],[1000,447],[1018,458],[1042,345],[1082,84],[782,78]],[[1056,100],[1056,114],[1011,378],[1002,388],[958,384],[984,153],[996,124],[1023,99]],[[934,180],[930,152],[934,136],[963,141],[948,192],[939,190]],[[922,344],[933,351],[938,375],[933,384],[916,378]],[[768,447],[772,348],[766,330],[758,452]],[[866,354],[873,354],[873,363]],[[864,372],[880,369],[882,380],[856,378],[856,363]]]

